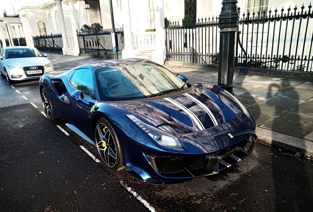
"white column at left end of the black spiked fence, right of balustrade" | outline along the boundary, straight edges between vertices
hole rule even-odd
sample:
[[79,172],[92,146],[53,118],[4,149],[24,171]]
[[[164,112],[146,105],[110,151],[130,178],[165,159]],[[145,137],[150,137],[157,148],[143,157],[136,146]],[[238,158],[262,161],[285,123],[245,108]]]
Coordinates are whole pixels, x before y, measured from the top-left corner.
[[[165,61],[165,29],[164,28],[164,1],[156,0],[156,50],[152,53],[152,60],[163,65]],[[158,10],[158,11],[157,11]]]

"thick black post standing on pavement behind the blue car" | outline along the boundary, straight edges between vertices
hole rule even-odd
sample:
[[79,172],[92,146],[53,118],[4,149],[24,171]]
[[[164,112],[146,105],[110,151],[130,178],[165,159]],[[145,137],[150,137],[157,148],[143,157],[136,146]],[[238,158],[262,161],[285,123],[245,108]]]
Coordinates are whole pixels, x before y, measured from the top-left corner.
[[223,0],[219,14],[219,86],[233,94],[235,37],[239,14],[237,0]]

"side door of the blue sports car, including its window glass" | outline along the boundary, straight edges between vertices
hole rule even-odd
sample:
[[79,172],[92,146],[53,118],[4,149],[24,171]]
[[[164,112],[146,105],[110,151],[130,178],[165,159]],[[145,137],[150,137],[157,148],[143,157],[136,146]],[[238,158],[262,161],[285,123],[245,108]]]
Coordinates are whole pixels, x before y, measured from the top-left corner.
[[[72,104],[67,105],[66,119],[87,136],[90,136],[92,134],[90,113],[96,103],[92,71],[87,68],[75,70],[74,74],[69,79],[69,84],[73,88],[69,96]],[[79,90],[84,94],[83,99],[75,97]]]

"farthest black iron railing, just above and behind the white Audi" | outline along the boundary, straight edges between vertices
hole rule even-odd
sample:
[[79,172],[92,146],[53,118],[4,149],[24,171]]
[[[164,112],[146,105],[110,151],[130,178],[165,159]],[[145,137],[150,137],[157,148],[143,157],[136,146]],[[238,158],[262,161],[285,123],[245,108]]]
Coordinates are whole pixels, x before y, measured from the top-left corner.
[[62,34],[52,34],[48,36],[33,36],[34,46],[41,51],[62,52]]

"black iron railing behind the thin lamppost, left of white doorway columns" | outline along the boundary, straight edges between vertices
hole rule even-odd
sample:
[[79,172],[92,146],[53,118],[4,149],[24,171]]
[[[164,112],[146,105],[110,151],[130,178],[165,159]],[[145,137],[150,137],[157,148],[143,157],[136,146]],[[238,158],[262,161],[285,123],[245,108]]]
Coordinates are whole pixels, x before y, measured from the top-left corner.
[[[112,29],[77,32],[80,53],[115,56],[111,31]],[[118,56],[121,57],[125,46],[124,29],[119,28],[115,31],[115,39],[118,41],[116,51]]]

